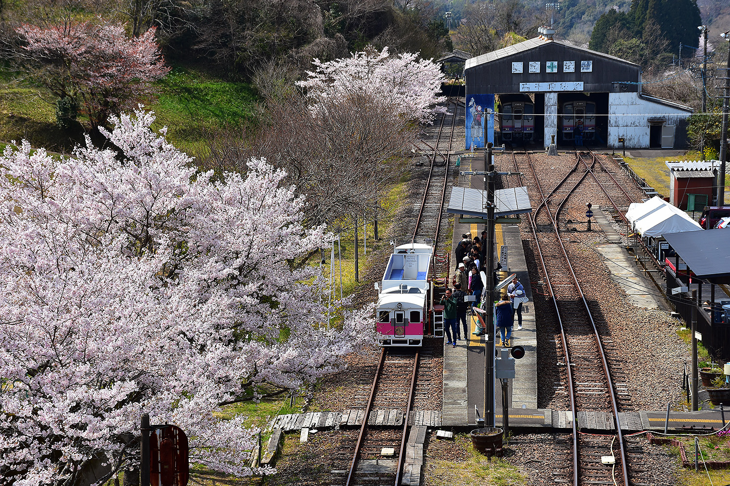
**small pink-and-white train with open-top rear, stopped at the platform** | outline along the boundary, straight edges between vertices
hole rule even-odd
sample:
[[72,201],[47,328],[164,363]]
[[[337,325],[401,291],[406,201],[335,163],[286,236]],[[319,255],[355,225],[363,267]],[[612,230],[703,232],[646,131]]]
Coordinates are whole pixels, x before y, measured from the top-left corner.
[[378,287],[377,340],[383,346],[420,346],[431,306],[434,247],[396,246]]

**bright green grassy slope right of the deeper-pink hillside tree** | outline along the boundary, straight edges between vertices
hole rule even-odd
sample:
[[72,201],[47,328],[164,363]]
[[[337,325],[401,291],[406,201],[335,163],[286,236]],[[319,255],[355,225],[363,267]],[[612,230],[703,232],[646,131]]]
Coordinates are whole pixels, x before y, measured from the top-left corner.
[[155,87],[160,95],[150,105],[157,115],[154,128],[166,125],[168,141],[190,154],[206,153],[211,133],[255,123],[258,98],[247,83],[175,67]]

